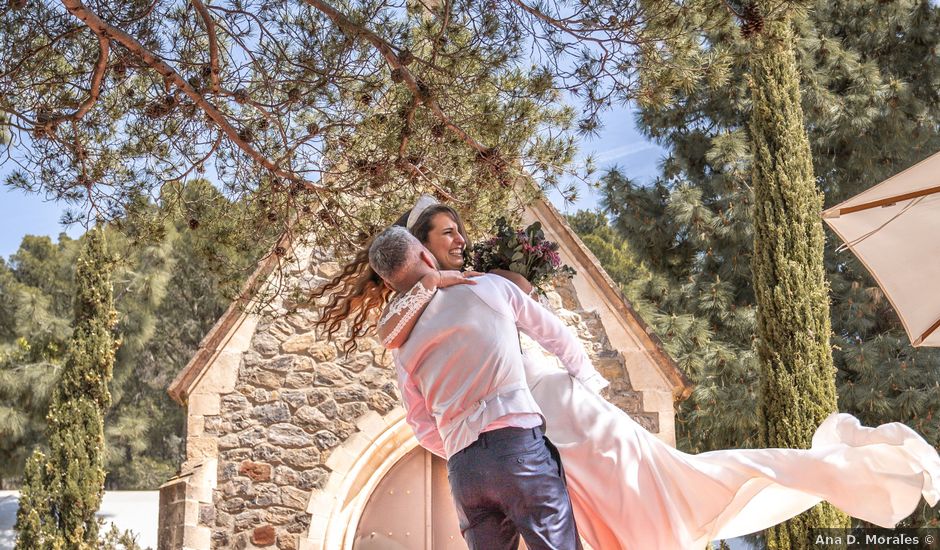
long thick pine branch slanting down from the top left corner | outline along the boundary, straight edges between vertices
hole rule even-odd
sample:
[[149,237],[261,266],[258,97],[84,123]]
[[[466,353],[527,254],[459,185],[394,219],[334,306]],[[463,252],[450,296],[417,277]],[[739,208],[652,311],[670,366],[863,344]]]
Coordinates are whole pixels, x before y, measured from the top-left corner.
[[238,130],[225,118],[219,109],[199,93],[189,82],[186,81],[173,67],[159,56],[148,50],[143,44],[128,33],[108,24],[98,14],[91,11],[81,3],[80,0],[61,0],[62,5],[73,16],[77,17],[82,23],[87,25],[93,32],[101,36],[109,37],[125,48],[132,54],[139,57],[151,69],[160,73],[168,83],[176,86],[187,97],[189,97],[197,107],[206,113],[206,116],[219,127],[228,139],[242,150],[255,162],[266,168],[272,174],[284,178],[294,183],[299,183],[311,191],[324,192],[327,189],[319,186],[295,172],[285,170],[275,162],[251,146],[246,140],[239,136]]

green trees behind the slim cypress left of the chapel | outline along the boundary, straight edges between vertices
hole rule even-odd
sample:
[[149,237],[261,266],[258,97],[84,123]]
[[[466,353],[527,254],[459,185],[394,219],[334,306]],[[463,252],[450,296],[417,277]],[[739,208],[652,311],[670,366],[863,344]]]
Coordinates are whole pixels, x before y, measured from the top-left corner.
[[[103,230],[121,334],[105,415],[106,489],[149,490],[173,475],[183,452],[183,411],[166,386],[231,303],[234,277],[267,251],[211,220],[207,210],[244,208],[205,180],[168,186],[185,208],[136,205]],[[218,218],[214,218],[218,219]],[[157,234],[159,238],[148,238]],[[66,361],[77,259],[84,241],[26,236],[0,260],[0,489],[18,488],[32,450],[45,444],[46,416]],[[132,352],[132,353],[131,353]]]

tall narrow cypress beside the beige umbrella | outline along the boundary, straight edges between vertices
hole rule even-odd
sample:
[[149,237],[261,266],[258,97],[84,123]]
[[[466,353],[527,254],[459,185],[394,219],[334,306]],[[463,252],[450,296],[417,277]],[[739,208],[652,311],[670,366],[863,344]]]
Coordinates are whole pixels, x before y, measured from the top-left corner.
[[[809,448],[816,427],[836,410],[819,217],[823,200],[803,127],[790,18],[768,20],[752,36],[752,269],[760,437],[767,447]],[[810,528],[847,526],[844,515],[820,505],[769,529],[767,543],[770,548],[809,548]]]

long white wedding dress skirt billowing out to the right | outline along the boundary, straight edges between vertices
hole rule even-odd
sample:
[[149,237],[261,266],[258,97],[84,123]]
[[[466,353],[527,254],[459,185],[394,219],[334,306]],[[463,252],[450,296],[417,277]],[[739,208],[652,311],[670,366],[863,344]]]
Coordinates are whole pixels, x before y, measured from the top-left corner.
[[823,500],[893,527],[921,495],[931,505],[940,496],[937,451],[903,424],[866,428],[832,414],[811,449],[687,454],[526,347],[529,385],[561,453],[578,529],[594,550],[701,550]]

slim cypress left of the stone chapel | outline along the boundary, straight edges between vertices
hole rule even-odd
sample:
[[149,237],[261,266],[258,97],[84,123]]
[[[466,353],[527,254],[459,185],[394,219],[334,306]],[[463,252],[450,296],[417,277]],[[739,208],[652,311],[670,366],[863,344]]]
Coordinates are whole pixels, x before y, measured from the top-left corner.
[[34,452],[24,474],[16,547],[97,545],[95,513],[104,492],[104,412],[114,364],[116,316],[111,261],[101,231],[85,237],[75,275],[74,325],[47,415],[48,455]]

